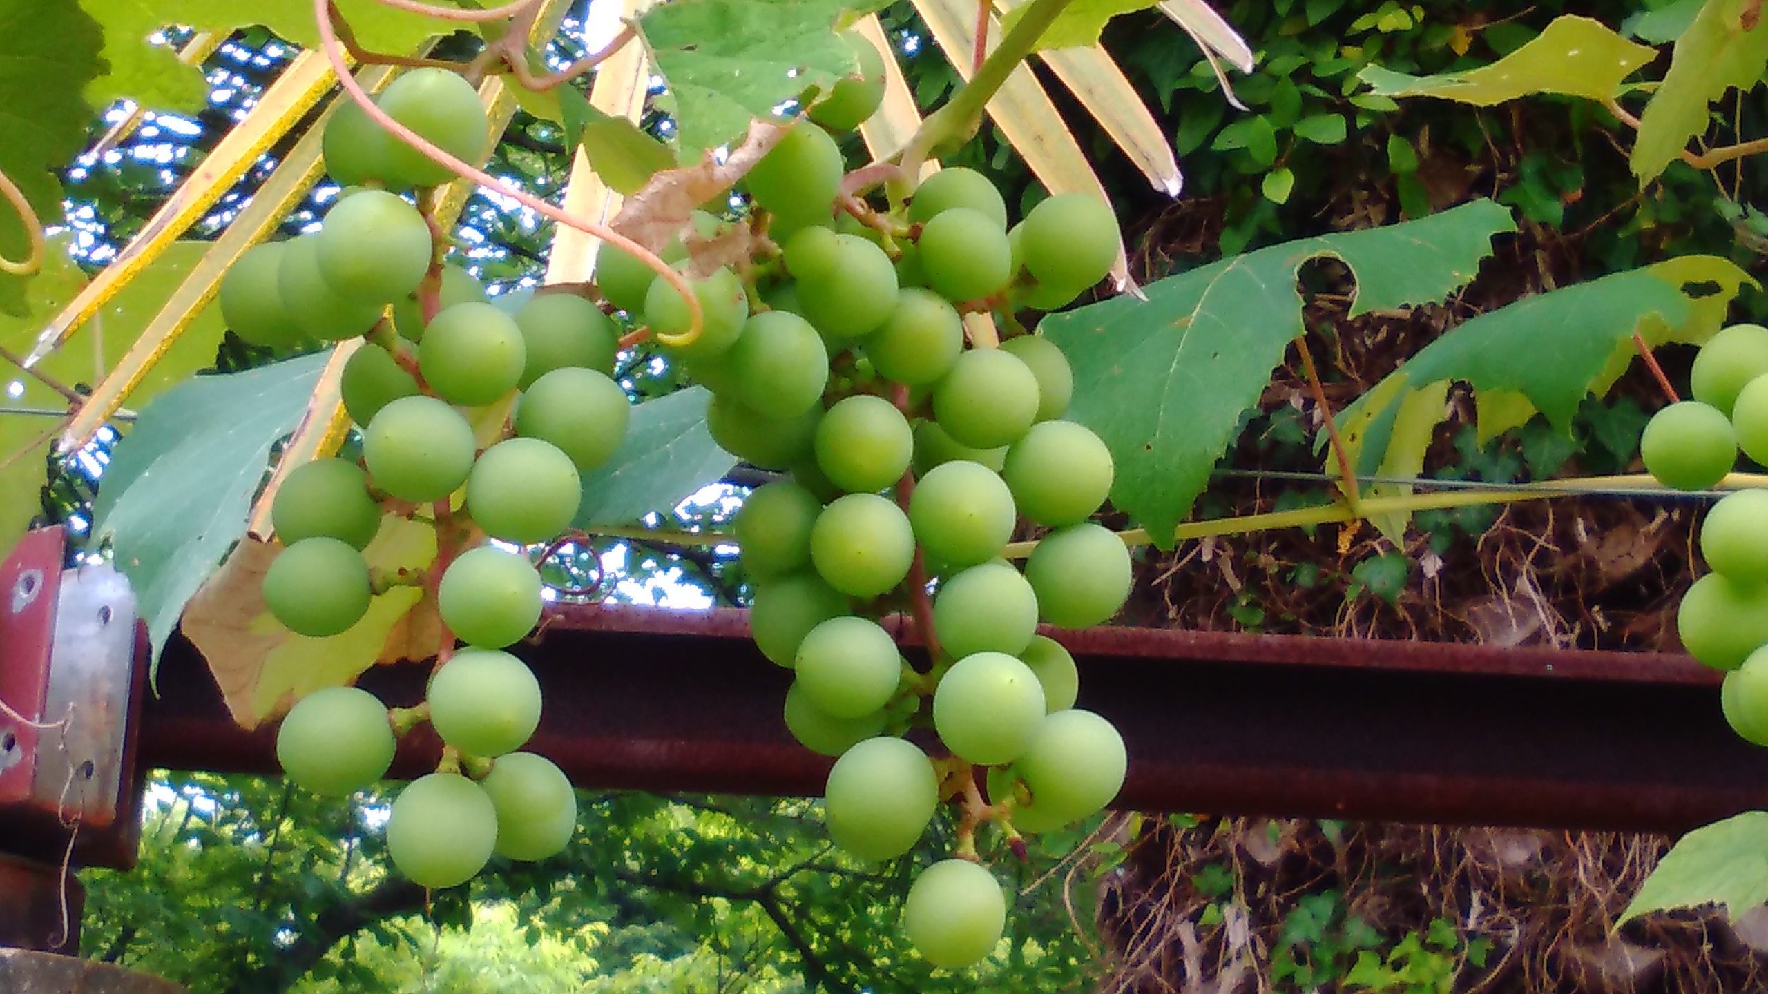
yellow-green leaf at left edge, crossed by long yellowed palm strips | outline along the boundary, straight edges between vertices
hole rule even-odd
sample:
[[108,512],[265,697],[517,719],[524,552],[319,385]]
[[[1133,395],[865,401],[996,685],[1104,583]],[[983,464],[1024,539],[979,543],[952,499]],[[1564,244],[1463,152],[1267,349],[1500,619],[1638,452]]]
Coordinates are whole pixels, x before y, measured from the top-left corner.
[[[0,345],[14,354],[30,352],[37,333],[85,287],[85,272],[67,255],[67,235],[50,241],[42,272],[27,285],[27,313],[0,315]],[[110,370],[129,350],[141,329],[159,313],[171,292],[184,281],[191,267],[209,251],[209,242],[173,242],[129,279],[111,302],[99,311],[99,322],[87,322],[48,354],[37,368],[60,384],[92,386],[103,370]],[[159,391],[182,382],[196,370],[214,364],[216,348],[226,327],[221,308],[209,306],[193,320],[159,363],[129,394],[129,403],[140,407]],[[99,368],[103,363],[103,370]],[[18,382],[19,393],[12,403],[35,410],[67,407],[58,393],[0,359],[0,382]],[[44,467],[55,444],[51,428],[57,421],[41,416],[0,414],[0,458],[23,453],[0,467],[0,555],[12,547],[30,520],[42,513],[41,492]],[[28,451],[25,451],[28,447]]]

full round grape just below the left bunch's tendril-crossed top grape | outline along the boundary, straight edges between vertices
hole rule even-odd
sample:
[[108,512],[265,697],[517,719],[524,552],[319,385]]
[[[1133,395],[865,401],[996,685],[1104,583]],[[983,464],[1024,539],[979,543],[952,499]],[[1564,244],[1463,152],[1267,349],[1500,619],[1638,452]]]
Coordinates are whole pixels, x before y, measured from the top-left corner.
[[338,294],[384,306],[417,292],[430,271],[430,225],[415,207],[364,189],[325,214],[318,237],[320,272]]

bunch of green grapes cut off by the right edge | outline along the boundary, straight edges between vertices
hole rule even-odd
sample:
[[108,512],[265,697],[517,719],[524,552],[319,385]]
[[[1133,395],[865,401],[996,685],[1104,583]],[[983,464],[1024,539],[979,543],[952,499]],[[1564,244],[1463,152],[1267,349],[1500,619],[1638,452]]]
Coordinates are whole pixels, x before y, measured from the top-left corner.
[[[1694,400],[1658,410],[1639,455],[1658,483],[1708,490],[1738,449],[1768,463],[1768,327],[1731,325],[1701,347],[1690,370]],[[1696,660],[1726,670],[1726,722],[1768,745],[1768,492],[1740,490],[1706,513],[1701,557],[1711,570],[1676,608],[1676,631]]]

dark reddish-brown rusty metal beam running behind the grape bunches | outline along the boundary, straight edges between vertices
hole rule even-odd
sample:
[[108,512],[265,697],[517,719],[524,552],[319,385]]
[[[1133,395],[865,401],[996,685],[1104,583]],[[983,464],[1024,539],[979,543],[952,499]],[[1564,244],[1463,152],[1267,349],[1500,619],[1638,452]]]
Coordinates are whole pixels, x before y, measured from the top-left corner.
[[[1681,656],[1105,628],[1055,631],[1080,706],[1123,730],[1124,808],[1681,831],[1768,807],[1768,750]],[[787,738],[790,674],[737,610],[560,610],[518,647],[545,688],[532,748],[583,787],[817,794],[827,761]],[[421,665],[362,686],[414,704]],[[143,762],[272,773],[272,732],[237,729],[175,638]],[[421,732],[394,773],[435,761]]]

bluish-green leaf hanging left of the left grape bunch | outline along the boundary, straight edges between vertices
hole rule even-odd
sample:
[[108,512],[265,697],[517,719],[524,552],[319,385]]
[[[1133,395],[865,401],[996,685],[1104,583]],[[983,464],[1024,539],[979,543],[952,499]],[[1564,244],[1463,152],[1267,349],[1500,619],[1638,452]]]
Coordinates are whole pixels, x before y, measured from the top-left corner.
[[134,587],[156,663],[186,601],[246,534],[271,446],[301,423],[327,357],[194,377],[147,405],[111,451],[92,534]]

